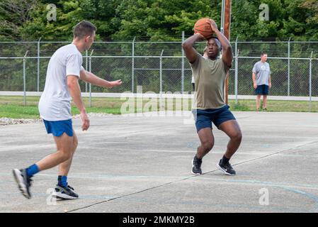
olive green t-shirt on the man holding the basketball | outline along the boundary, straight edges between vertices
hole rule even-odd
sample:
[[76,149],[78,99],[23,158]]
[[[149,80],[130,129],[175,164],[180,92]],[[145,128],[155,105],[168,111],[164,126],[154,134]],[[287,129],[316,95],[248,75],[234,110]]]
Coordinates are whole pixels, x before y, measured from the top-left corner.
[[229,67],[222,59],[205,59],[199,53],[190,65],[195,79],[193,109],[219,109],[225,106],[224,88]]

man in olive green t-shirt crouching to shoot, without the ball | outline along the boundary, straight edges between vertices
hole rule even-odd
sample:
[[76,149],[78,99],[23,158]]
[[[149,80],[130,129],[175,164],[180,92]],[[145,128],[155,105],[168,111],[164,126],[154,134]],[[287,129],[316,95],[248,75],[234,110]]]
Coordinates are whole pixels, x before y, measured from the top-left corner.
[[[229,159],[241,144],[242,132],[235,117],[229,111],[229,106],[224,101],[225,79],[233,60],[232,47],[229,40],[217,29],[215,21],[211,19],[207,19],[207,21],[217,36],[208,39],[208,59],[202,57],[193,48],[195,42],[204,39],[200,33],[195,33],[182,44],[195,79],[195,107],[193,111],[195,113],[195,127],[201,142],[192,160],[192,173],[194,175],[202,174],[202,158],[209,153],[214,145],[213,122],[218,129],[229,136],[227,150],[217,164],[217,168],[226,175],[236,175]],[[218,58],[220,50],[223,50],[222,59]]]

